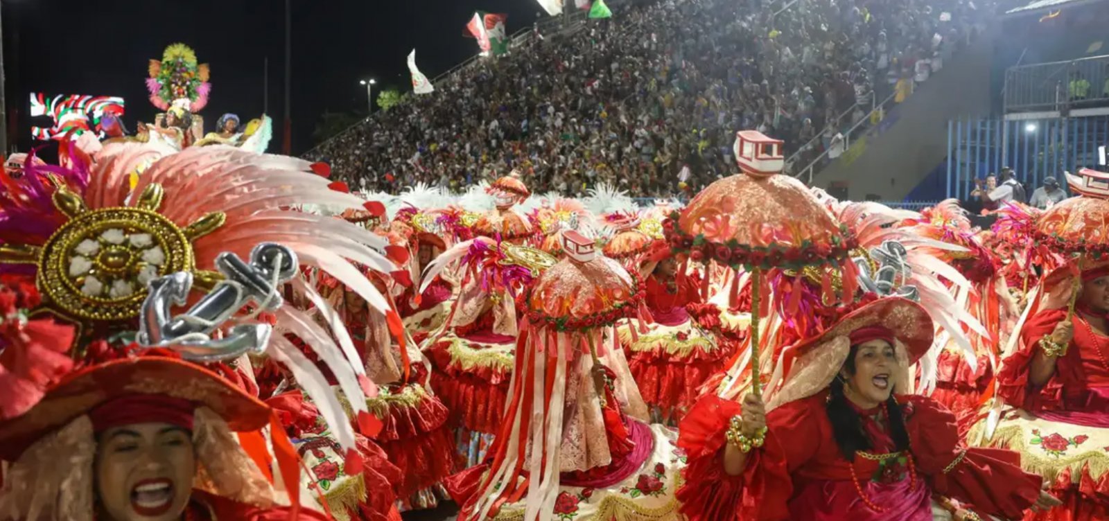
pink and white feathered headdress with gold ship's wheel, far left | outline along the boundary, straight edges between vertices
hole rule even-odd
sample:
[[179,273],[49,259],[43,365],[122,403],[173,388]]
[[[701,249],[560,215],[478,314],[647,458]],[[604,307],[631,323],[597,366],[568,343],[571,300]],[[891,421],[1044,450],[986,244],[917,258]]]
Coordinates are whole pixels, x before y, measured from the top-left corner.
[[[151,279],[190,272],[196,286],[212,287],[221,278],[212,272],[218,254],[245,257],[258,242],[274,242],[289,247],[303,265],[342,280],[381,314],[396,315],[347,260],[394,270],[380,253],[380,237],[332,217],[281,210],[295,204],[360,206],[364,202],[345,193],[344,185],[326,180],[326,165],[224,146],[172,155],[163,151],[114,143],[94,162],[71,160],[72,168],[29,162],[19,186],[27,197],[0,198],[0,273],[35,274],[45,309],[79,324],[82,338],[106,337],[135,327]],[[129,174],[142,165],[149,167],[131,193]],[[334,310],[301,278],[291,285],[329,318],[329,328],[314,324],[304,310],[283,306],[275,313],[278,335],[265,353],[288,366],[343,448],[353,451],[354,431],[338,398],[283,334],[304,339],[326,364],[363,431],[378,428],[365,405],[376,387],[365,377]]]

